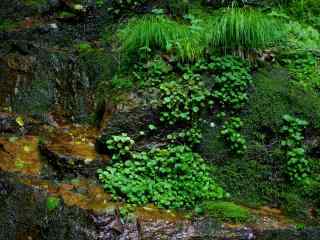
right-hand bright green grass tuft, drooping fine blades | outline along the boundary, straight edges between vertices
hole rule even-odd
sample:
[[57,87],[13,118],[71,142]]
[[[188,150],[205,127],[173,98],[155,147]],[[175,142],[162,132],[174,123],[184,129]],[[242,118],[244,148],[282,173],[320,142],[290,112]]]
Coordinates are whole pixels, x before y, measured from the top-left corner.
[[[221,12],[221,10],[220,10]],[[209,20],[209,42],[225,52],[261,49],[280,38],[280,28],[272,18],[250,8],[225,8]]]

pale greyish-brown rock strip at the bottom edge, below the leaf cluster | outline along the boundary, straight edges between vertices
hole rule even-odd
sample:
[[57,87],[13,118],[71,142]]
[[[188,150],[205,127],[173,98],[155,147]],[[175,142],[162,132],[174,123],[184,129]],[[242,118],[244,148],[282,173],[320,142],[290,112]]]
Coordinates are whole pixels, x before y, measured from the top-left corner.
[[[111,213],[93,215],[99,239],[139,240],[139,239],[203,239],[203,240],[252,240],[255,235],[250,228],[224,227],[210,218],[167,219],[154,217],[151,219],[136,216],[120,222],[117,210]],[[117,228],[114,228],[114,226]]]

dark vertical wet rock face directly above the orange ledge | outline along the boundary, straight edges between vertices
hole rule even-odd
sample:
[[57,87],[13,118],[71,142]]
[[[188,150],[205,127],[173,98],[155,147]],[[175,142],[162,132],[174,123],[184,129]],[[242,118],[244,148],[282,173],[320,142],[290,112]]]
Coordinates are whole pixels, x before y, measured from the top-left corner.
[[[42,34],[57,31],[52,23]],[[12,42],[10,54],[0,54],[0,106],[35,115],[48,112],[81,120],[93,112],[94,84],[76,56]],[[91,89],[91,90],[90,90]]]

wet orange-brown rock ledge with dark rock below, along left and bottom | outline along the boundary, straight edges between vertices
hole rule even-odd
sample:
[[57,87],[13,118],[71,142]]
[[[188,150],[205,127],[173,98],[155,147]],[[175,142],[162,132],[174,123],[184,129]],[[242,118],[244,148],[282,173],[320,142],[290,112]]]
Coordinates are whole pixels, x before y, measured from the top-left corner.
[[[72,154],[83,155],[83,146],[93,147],[94,153],[99,132],[78,125],[44,126],[42,131],[41,137],[0,138],[0,239],[313,240],[319,234],[316,228],[297,231],[281,212],[267,208],[251,210],[258,218],[249,226],[221,224],[209,217],[190,219],[183,212],[154,206],[137,207],[123,217],[119,213],[123,203],[112,201],[95,176],[84,177],[77,168],[76,174],[61,174],[38,148],[40,138],[40,145],[43,141],[48,146],[73,146]],[[49,198],[59,200],[53,209]]]

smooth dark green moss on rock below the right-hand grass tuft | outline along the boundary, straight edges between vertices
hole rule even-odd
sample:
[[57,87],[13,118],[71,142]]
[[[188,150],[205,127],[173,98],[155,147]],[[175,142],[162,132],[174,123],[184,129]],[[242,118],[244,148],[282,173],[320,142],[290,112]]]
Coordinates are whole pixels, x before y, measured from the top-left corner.
[[260,71],[254,79],[248,114],[244,117],[249,131],[267,127],[273,132],[280,129],[282,116],[297,115],[319,127],[320,97],[312,90],[291,84],[284,69]]

